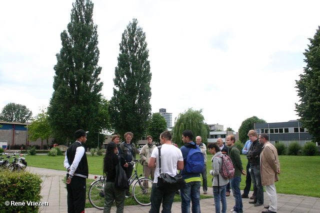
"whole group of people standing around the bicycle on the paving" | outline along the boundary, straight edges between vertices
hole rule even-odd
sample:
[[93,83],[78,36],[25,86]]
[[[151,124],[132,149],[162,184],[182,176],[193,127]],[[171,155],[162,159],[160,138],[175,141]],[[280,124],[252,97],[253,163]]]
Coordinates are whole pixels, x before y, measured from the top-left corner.
[[[85,205],[85,178],[88,177],[88,166],[83,144],[86,141],[87,132],[77,130],[75,132],[76,141],[67,149],[64,160],[64,167],[67,169],[67,204],[69,213],[83,213]],[[226,137],[225,144],[221,138],[217,139],[217,143],[210,143],[206,147],[202,143],[201,137],[197,136],[193,142],[193,133],[190,130],[182,132],[183,146],[179,149],[176,144],[171,142],[172,136],[170,132],[165,131],[160,134],[161,144],[161,173],[167,173],[174,177],[177,170],[180,170],[185,185],[180,189],[181,196],[181,212],[190,212],[190,203],[192,204],[192,213],[200,213],[200,186],[202,176],[203,194],[207,194],[207,178],[206,178],[206,148],[208,152],[213,155],[212,170],[209,174],[213,176],[212,187],[214,195],[214,204],[216,213],[226,213],[226,196],[229,196],[229,190],[232,189],[233,197],[235,198],[235,205],[231,212],[243,213],[242,198],[248,198],[248,192],[252,181],[253,185],[253,201],[249,202],[254,206],[263,205],[263,187],[269,196],[270,204],[265,206],[266,211],[262,213],[276,212],[276,191],[274,182],[278,181],[277,174],[280,174],[279,162],[276,149],[268,142],[267,134],[260,134],[254,130],[248,133],[249,141],[245,144],[242,153],[246,154],[248,163],[246,171],[242,168],[240,159],[241,150],[234,145],[235,137],[229,135]],[[114,135],[111,142],[108,143],[105,157],[103,160],[103,173],[106,175],[105,183],[105,201],[104,213],[109,213],[113,203],[116,205],[116,212],[123,213],[125,197],[130,197],[128,190],[119,190],[115,188],[115,167],[120,162],[121,167],[126,172],[129,179],[132,175],[133,166],[127,164],[135,160],[137,149],[134,143],[131,143],[133,134],[127,132],[124,134],[125,142],[120,143],[120,136]],[[147,136],[147,144],[141,148],[139,159],[143,165],[143,175],[148,178],[151,177],[153,185],[151,187],[151,208],[149,213],[159,213],[162,203],[162,213],[170,213],[173,203],[173,198],[176,192],[162,191],[156,188],[159,177],[159,151],[155,145],[152,144],[152,137]],[[199,149],[203,154],[204,169],[202,173],[194,174],[188,173],[185,170],[186,158],[190,149]],[[232,179],[224,179],[219,174],[222,168],[222,156],[226,154],[232,161],[234,168],[234,176]],[[200,154],[201,155],[201,154]],[[120,156],[120,161],[118,160]],[[246,186],[243,194],[240,193],[241,174],[246,175]],[[250,178],[248,178],[248,176]],[[143,183],[147,184],[147,183]],[[222,208],[220,208],[220,202]]]

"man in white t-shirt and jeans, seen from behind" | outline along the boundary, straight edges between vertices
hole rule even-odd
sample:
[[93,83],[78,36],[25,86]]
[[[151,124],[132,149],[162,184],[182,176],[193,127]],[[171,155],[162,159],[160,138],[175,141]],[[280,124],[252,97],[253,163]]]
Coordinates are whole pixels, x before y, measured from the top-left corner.
[[[172,146],[172,136],[170,132],[165,131],[160,135],[161,143],[161,173],[167,173],[169,176],[175,176],[176,170],[183,170],[183,157],[181,151]],[[174,199],[175,192],[161,191],[156,188],[159,176],[159,161],[158,161],[158,148],[153,149],[149,159],[148,167],[155,168],[154,180],[151,191],[151,209],[149,213],[159,213],[161,201],[162,212],[171,212],[171,207]]]

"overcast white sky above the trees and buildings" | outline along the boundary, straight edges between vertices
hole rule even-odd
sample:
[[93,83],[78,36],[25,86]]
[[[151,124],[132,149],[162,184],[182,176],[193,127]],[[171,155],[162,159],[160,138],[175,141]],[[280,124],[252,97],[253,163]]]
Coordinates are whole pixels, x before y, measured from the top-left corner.
[[[75,0],[3,1],[0,7],[0,109],[25,105],[33,116],[52,96],[60,33]],[[146,35],[152,112],[172,122],[188,108],[207,124],[237,131],[257,116],[298,119],[295,80],[320,25],[320,1],[93,0],[102,95],[112,97],[119,43],[133,18]]]

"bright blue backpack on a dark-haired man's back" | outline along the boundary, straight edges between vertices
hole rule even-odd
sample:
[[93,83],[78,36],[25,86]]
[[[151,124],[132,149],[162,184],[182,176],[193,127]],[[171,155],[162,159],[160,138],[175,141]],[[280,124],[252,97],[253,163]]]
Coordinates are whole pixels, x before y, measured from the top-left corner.
[[192,174],[201,174],[204,169],[204,156],[196,145],[196,148],[191,148],[186,156],[185,171]]

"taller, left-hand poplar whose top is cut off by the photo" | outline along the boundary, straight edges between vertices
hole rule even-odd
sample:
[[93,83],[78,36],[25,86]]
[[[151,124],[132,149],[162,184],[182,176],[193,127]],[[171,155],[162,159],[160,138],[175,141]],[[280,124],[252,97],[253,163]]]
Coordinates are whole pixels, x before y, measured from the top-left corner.
[[[102,82],[98,75],[97,25],[91,0],[75,0],[67,31],[60,34],[62,48],[56,54],[54,92],[48,107],[52,132],[57,140],[73,141],[77,129],[93,129],[98,115]],[[89,137],[88,137],[89,141]]]

